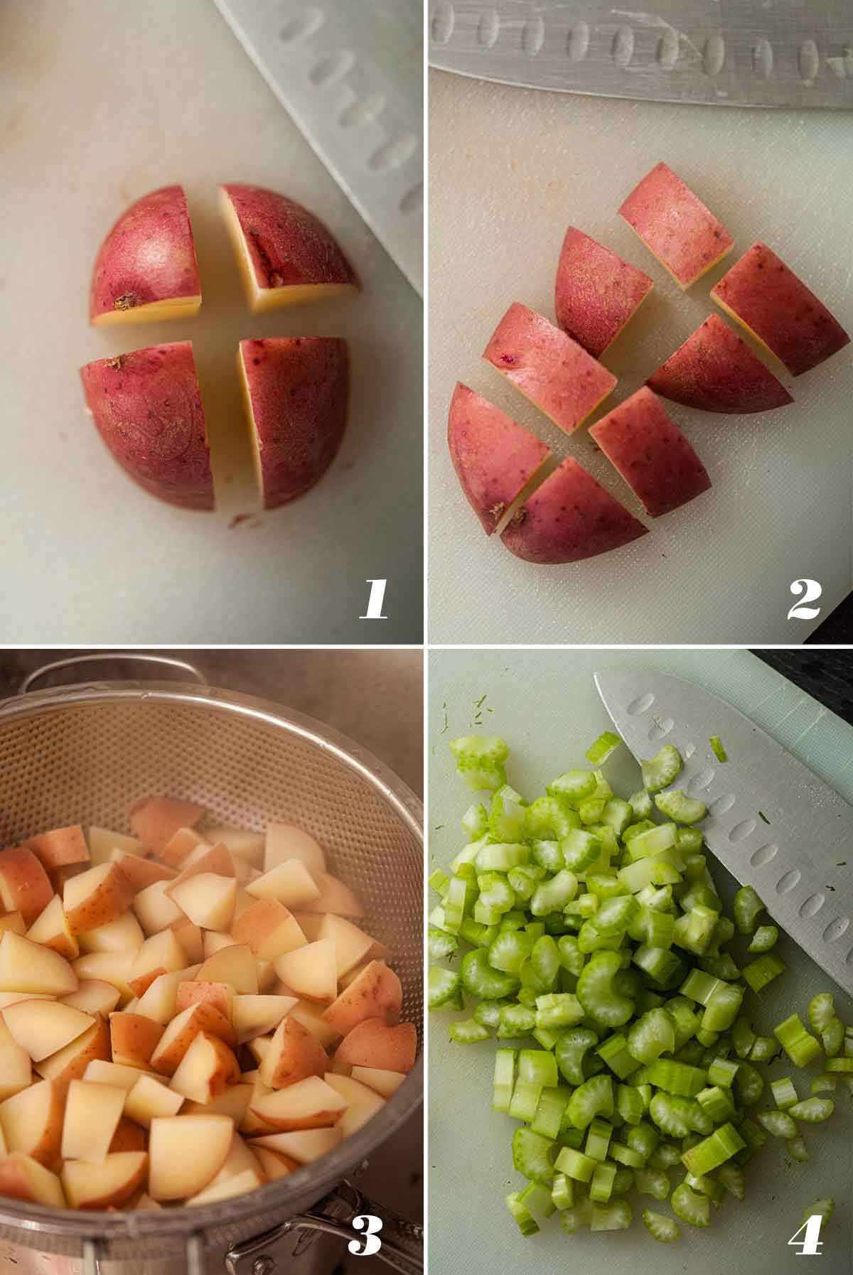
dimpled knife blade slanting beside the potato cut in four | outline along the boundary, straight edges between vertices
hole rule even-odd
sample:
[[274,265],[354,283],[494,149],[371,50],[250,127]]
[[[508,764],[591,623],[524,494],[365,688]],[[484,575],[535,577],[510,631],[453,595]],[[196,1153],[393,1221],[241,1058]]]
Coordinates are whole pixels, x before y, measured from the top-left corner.
[[423,291],[419,0],[214,0],[412,287]]

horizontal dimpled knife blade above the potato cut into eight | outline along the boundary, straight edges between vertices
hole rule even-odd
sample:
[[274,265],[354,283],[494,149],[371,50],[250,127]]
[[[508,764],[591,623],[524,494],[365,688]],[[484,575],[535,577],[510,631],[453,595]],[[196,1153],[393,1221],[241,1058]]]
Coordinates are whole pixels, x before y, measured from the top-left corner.
[[430,62],[528,88],[853,108],[849,0],[430,0]]

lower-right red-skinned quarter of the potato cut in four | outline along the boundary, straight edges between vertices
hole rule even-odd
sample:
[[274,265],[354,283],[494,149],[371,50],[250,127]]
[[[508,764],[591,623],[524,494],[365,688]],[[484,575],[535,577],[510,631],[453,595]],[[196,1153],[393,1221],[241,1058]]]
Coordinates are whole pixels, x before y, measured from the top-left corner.
[[260,450],[264,509],[314,487],[347,427],[349,357],[333,337],[242,340],[252,428]]

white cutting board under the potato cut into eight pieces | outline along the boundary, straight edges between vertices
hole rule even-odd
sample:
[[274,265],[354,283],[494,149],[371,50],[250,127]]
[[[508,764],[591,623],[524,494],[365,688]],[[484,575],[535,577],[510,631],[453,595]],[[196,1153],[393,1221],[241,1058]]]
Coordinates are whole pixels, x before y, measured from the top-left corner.
[[[654,279],[604,356],[632,394],[717,307],[723,263],[686,295],[616,212],[660,159],[734,236],[776,249],[853,333],[849,112],[672,106],[509,88],[430,73],[430,632],[437,643],[796,644],[853,589],[853,346],[792,382],[796,403],[727,417],[672,404],[713,490],[664,518],[639,501],[587,427],[567,439],[481,354],[513,301],[553,321],[566,226]],[[774,371],[778,368],[774,367]],[[652,532],[602,557],[534,566],[487,538],[448,455],[465,381],[574,455]],[[603,414],[603,412],[602,412]],[[788,620],[797,579],[822,585],[820,617]]]

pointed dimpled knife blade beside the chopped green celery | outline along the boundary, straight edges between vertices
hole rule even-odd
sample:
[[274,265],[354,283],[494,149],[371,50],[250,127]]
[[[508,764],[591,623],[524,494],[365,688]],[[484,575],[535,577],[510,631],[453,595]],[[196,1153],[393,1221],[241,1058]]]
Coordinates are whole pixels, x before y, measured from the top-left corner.
[[[595,673],[602,703],[640,760],[683,759],[673,787],[704,801],[710,850],[845,992],[853,993],[853,806],[718,695],[644,669]],[[710,746],[718,736],[728,756]],[[852,864],[845,871],[839,862]]]

